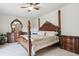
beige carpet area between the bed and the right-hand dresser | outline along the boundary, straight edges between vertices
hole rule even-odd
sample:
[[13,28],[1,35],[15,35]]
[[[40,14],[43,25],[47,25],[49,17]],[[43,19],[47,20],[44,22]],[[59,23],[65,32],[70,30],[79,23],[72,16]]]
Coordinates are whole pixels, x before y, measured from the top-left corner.
[[66,51],[59,47],[51,47],[37,52],[37,56],[78,56],[75,53]]

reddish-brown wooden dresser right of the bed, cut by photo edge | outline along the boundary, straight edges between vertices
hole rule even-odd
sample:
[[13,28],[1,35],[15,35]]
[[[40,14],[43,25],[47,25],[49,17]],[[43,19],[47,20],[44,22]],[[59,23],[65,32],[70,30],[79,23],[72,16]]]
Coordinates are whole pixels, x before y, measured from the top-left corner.
[[79,37],[78,36],[60,36],[61,48],[79,54]]

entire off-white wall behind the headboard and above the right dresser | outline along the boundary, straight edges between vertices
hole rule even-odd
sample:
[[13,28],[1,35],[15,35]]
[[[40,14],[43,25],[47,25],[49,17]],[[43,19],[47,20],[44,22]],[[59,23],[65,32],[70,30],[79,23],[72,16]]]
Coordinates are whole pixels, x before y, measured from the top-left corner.
[[[69,4],[61,10],[61,34],[79,36],[79,4]],[[40,17],[41,25],[46,21],[50,21],[53,24],[58,23],[57,11],[53,11]],[[38,28],[38,19],[36,18],[34,28]]]

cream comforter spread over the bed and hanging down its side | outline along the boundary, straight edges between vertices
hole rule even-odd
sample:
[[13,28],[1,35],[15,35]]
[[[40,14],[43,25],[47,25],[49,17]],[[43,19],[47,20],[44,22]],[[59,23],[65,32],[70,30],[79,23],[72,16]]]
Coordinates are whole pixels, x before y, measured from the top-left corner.
[[[22,35],[22,37],[28,40],[27,35]],[[44,47],[47,47],[59,42],[59,39],[57,36],[32,35],[31,41],[32,41],[32,55],[34,55],[35,52],[38,51],[39,49],[42,49]]]

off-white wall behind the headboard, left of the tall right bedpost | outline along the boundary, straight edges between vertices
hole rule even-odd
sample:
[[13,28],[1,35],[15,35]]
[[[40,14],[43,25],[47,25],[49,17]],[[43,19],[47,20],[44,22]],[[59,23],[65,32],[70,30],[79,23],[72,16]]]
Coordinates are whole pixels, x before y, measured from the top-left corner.
[[[52,24],[58,25],[58,10],[50,12],[40,17],[40,26],[42,26],[45,21],[49,21]],[[34,19],[33,28],[38,30],[38,18]]]

